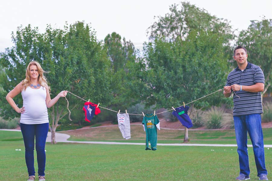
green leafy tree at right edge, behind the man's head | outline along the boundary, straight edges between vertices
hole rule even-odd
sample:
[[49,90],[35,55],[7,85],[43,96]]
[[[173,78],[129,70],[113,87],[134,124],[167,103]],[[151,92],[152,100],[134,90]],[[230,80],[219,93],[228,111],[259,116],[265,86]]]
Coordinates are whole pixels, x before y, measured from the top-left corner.
[[[271,91],[272,85],[272,19],[253,20],[247,30],[239,34],[237,45],[247,49],[248,61],[258,65],[264,72],[265,88]],[[234,61],[235,66],[237,66]]]

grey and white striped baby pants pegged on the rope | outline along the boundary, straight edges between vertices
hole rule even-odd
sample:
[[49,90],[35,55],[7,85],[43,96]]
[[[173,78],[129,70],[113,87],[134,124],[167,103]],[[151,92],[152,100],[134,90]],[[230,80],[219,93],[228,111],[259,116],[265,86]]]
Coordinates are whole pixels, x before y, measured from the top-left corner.
[[126,113],[117,113],[118,127],[122,133],[123,138],[130,139],[130,121]]

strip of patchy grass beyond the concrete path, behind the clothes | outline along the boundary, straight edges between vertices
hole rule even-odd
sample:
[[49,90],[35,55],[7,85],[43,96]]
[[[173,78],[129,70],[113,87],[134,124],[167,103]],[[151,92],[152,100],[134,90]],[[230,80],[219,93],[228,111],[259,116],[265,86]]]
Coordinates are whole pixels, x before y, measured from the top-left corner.
[[[131,139],[123,139],[118,126],[96,127],[93,129],[81,129],[63,131],[71,135],[70,141],[118,141],[118,142],[144,142],[145,132],[142,125],[131,125]],[[160,129],[158,143],[183,143],[183,130]],[[272,144],[272,128],[264,128],[264,144]],[[189,143],[199,144],[236,144],[235,131],[231,130],[189,130]],[[248,136],[248,144],[251,141]]]

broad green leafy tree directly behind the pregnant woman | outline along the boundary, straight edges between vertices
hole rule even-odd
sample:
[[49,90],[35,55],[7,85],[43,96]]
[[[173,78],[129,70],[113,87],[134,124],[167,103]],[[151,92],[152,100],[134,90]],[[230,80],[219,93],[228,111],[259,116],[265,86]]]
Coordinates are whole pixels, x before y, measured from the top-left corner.
[[[35,60],[45,71],[50,72],[46,77],[51,87],[51,97],[61,90],[69,90],[80,97],[90,98],[94,103],[111,103],[110,62],[89,25],[76,22],[68,27],[66,24],[64,30],[53,29],[48,25],[45,33],[39,33],[38,28],[32,29],[31,25],[18,27],[16,34],[12,33],[12,41],[15,45],[1,53],[0,58],[6,72],[0,85],[5,85],[6,92],[24,79],[25,68],[30,61]],[[67,96],[69,103],[76,107],[79,100],[70,95]],[[21,106],[21,97],[15,99]],[[5,111],[1,112],[3,116],[18,116],[5,104],[1,105],[5,107]],[[58,121],[68,113],[66,106],[66,100],[62,99],[48,109],[52,122],[49,127],[51,143],[56,143],[55,131]],[[82,106],[76,108],[82,109]]]

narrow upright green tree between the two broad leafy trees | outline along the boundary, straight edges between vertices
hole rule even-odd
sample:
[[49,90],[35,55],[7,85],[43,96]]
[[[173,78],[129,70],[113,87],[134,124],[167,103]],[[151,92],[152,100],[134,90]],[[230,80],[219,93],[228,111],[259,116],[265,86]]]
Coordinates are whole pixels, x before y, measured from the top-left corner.
[[130,82],[130,66],[134,66],[136,51],[130,40],[126,41],[125,37],[122,39],[121,35],[116,32],[105,37],[104,48],[112,65],[111,87],[114,101],[111,107],[124,112],[125,107],[132,102],[132,99],[126,96],[130,90],[125,84]]

